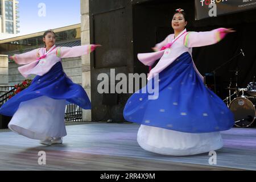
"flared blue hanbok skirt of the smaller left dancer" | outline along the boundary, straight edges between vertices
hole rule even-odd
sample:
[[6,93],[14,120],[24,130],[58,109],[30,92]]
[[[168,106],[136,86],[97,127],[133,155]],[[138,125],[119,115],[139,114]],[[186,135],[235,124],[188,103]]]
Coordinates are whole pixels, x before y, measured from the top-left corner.
[[[16,94],[2,105],[0,114],[13,116],[19,104],[41,96],[55,100],[66,100],[79,105],[82,109],[90,109],[90,100],[81,85],[73,83],[63,71],[61,62],[53,65],[51,70],[43,76],[36,76],[31,85]],[[67,102],[67,103],[68,103]]]

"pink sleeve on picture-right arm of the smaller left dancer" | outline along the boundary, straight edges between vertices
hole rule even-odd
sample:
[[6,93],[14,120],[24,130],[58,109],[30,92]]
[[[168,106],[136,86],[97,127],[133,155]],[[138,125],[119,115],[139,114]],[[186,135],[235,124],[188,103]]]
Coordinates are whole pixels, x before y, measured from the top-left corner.
[[94,51],[95,47],[93,44],[75,47],[58,47],[56,49],[56,55],[60,58],[79,57]]

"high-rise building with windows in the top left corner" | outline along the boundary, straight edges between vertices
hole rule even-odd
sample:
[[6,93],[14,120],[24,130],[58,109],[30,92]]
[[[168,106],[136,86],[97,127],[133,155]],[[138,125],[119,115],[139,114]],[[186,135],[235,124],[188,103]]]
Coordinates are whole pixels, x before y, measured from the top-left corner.
[[16,0],[0,1],[0,34],[19,33],[18,3]]

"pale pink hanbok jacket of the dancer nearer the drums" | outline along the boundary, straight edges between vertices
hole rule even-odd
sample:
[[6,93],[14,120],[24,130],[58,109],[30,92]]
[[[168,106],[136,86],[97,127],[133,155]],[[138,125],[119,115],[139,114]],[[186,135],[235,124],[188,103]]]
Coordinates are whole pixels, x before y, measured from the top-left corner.
[[[192,57],[192,47],[208,46],[220,42],[226,35],[225,30],[226,28],[217,28],[207,32],[187,32],[187,30],[184,30],[175,39],[174,34],[170,34],[163,42],[156,44],[155,47],[158,51],[139,53],[138,59],[147,66],[153,65],[156,60],[160,59],[158,64],[148,73],[147,79],[150,80],[154,77],[154,74],[163,71],[184,52],[189,52]],[[194,62],[193,66],[197,74],[204,80],[204,77],[199,73]]]

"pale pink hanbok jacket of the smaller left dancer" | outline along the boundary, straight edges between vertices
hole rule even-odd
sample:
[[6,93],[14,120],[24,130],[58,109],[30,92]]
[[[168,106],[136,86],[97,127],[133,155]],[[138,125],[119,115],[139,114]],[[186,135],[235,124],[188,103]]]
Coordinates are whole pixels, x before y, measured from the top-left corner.
[[29,75],[43,76],[57,62],[65,57],[78,57],[86,55],[95,49],[95,45],[75,46],[75,47],[56,47],[53,46],[46,52],[46,48],[38,48],[33,51],[14,55],[17,64],[23,64],[18,70],[22,76],[27,78]]

